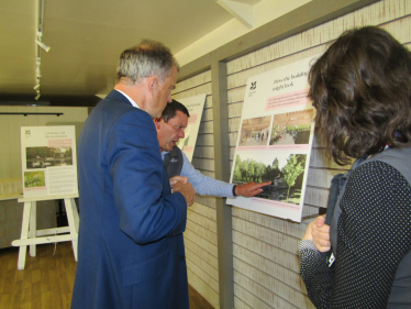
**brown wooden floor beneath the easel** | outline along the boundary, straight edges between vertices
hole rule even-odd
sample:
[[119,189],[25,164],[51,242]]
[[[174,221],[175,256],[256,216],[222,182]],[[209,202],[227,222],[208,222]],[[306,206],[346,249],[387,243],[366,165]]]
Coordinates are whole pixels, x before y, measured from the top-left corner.
[[[35,257],[27,253],[24,271],[18,271],[18,247],[0,250],[0,308],[70,308],[76,274],[71,243],[58,243],[56,250],[54,244],[37,245]],[[213,308],[192,287],[189,295],[190,309]]]

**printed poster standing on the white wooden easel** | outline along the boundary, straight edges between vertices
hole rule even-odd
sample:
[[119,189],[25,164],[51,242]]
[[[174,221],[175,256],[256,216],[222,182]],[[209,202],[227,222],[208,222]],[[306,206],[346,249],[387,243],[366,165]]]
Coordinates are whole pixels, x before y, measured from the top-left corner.
[[22,126],[23,196],[78,194],[74,125]]

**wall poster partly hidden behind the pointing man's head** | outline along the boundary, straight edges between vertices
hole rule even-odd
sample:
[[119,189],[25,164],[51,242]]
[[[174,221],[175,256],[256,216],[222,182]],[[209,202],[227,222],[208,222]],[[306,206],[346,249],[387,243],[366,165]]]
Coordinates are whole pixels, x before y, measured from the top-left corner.
[[187,155],[187,158],[191,162],[192,155],[195,154],[198,132],[200,129],[202,110],[206,102],[206,95],[178,99],[177,101],[184,104],[188,109],[188,112],[190,114],[188,119],[188,125],[185,130],[185,137],[178,141],[177,146]]

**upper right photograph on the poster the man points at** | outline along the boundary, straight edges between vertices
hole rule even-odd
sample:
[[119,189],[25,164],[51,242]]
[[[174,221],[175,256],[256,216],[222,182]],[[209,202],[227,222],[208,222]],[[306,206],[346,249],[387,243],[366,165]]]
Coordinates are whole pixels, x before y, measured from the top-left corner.
[[313,109],[275,114],[269,144],[308,144],[313,114]]

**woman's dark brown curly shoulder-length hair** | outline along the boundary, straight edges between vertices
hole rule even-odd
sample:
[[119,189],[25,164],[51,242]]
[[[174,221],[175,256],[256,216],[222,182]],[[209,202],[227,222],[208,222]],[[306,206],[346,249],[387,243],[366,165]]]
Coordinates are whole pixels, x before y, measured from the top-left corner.
[[411,143],[411,53],[388,32],[343,33],[311,67],[309,98],[333,159]]

